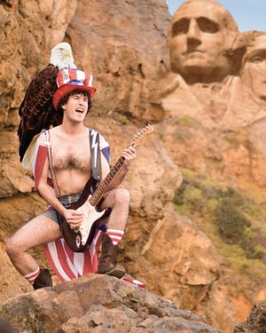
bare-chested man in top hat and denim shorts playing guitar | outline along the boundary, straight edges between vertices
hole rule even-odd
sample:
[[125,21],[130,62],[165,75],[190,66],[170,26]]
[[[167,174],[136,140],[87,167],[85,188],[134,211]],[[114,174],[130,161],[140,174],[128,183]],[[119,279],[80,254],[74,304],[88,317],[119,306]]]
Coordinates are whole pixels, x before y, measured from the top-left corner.
[[[64,69],[59,71],[59,89],[53,97],[53,105],[58,112],[63,112],[63,122],[54,127],[49,133],[43,132],[38,141],[48,140],[51,143],[51,159],[56,187],[60,196],[57,197],[51,182],[48,181],[52,170],[49,168],[48,154],[43,161],[38,154],[36,163],[39,163],[35,172],[35,185],[38,193],[50,205],[50,209],[43,215],[33,218],[22,226],[6,243],[6,251],[12,264],[20,274],[30,281],[35,289],[51,286],[51,274],[48,270],[40,270],[39,266],[27,250],[39,244],[52,242],[60,237],[59,221],[56,211],[66,218],[67,223],[76,228],[82,223],[82,213],[76,210],[67,210],[66,206],[79,199],[82,190],[90,178],[90,141],[89,129],[83,121],[90,111],[90,99],[96,89],[91,86],[92,76],[80,69]],[[104,144],[101,144],[104,143]],[[109,172],[106,160],[105,139],[101,137],[101,166],[102,178]],[[46,149],[48,151],[48,149]],[[114,266],[113,257],[115,245],[121,240],[129,213],[129,192],[117,188],[125,178],[131,162],[136,158],[136,150],[129,147],[123,150],[125,162],[104,194],[101,209],[111,208],[107,232],[103,237],[102,256],[99,259],[98,273],[110,274],[121,278],[125,272]],[[41,164],[41,166],[40,166]],[[55,211],[56,210],[56,211]]]

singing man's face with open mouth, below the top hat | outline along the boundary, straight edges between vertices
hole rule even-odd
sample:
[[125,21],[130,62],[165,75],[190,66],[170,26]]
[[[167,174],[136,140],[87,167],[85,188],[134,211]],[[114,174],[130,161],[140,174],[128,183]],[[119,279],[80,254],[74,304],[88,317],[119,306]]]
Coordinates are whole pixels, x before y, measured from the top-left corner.
[[82,123],[88,111],[89,98],[82,93],[70,95],[64,107],[64,114],[74,123]]

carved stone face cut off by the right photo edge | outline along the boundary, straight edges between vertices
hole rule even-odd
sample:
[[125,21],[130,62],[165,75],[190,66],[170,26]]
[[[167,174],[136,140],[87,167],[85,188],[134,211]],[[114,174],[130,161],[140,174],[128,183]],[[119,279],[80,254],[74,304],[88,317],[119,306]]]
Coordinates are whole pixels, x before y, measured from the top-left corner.
[[256,37],[247,48],[241,78],[256,98],[266,102],[266,35]]

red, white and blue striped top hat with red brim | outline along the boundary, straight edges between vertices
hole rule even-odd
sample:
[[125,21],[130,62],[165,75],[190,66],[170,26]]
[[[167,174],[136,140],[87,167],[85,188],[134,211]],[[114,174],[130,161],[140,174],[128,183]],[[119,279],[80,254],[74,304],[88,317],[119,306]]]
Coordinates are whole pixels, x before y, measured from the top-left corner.
[[78,68],[60,70],[57,77],[57,84],[59,88],[53,95],[53,106],[57,108],[59,100],[70,91],[88,91],[90,93],[90,98],[93,97],[96,89],[91,86],[92,80],[92,75],[85,73]]

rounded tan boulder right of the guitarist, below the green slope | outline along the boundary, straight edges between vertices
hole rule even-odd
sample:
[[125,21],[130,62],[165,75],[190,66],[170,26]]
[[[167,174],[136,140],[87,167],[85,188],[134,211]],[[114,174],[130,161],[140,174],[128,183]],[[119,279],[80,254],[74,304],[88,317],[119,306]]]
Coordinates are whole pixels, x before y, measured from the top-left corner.
[[219,277],[216,257],[207,236],[168,207],[168,213],[153,227],[134,268],[151,290],[193,309]]

